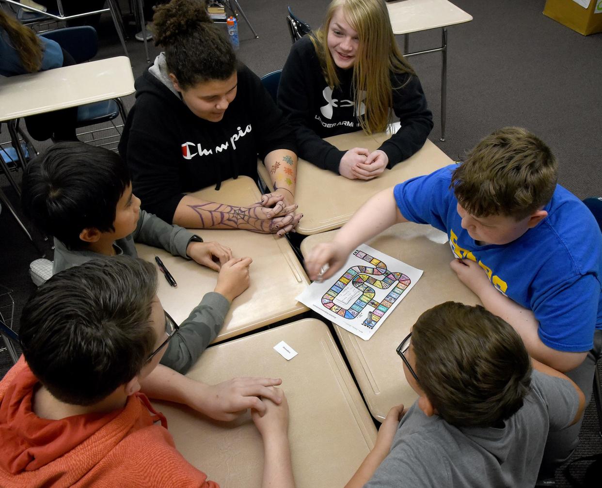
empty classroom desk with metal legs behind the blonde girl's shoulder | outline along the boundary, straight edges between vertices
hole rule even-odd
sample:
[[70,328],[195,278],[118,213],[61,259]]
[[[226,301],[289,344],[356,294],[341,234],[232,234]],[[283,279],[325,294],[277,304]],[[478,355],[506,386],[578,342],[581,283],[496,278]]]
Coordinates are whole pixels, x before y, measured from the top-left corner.
[[[447,0],[402,0],[387,2],[391,27],[394,34],[404,34],[406,58],[441,51],[441,140],[445,140],[445,116],[447,110],[447,27],[470,22],[473,16]],[[441,28],[441,47],[409,52],[409,34]]]

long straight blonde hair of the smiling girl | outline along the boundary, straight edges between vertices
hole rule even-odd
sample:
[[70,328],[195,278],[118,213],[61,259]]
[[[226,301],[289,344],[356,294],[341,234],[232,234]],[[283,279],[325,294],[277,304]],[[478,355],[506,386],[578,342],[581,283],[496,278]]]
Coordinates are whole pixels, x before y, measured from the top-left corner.
[[[367,134],[382,132],[390,122],[393,90],[401,88],[391,85],[391,72],[408,73],[408,81],[416,73],[397,47],[389,11],[383,0],[332,0],[323,25],[309,35],[330,88],[339,86],[337,66],[327,44],[330,20],[339,7],[343,8],[349,24],[358,32],[359,46],[353,65],[352,86],[355,106],[359,107],[362,102],[365,106],[365,113],[358,115],[359,123]],[[365,92],[365,98],[362,92]]]

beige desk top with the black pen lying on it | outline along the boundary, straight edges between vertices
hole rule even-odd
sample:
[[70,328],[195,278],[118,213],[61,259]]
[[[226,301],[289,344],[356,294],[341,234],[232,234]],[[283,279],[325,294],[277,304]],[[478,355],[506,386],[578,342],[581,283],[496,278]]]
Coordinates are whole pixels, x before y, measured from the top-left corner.
[[[213,187],[205,188],[194,193],[194,196],[211,202],[248,205],[258,202],[260,194],[252,179],[240,176],[223,182],[220,191]],[[202,236],[207,242],[217,241],[230,247],[236,257],[253,258],[250,266],[251,285],[232,302],[225,325],[215,342],[308,310],[295,300],[309,280],[287,239],[249,230],[191,229],[191,232]],[[140,258],[153,264],[155,256],[159,256],[178,283],[178,287],[173,288],[163,276],[159,276],[158,295],[161,303],[178,323],[188,317],[203,295],[213,291],[216,285],[216,271],[194,261],[186,261],[144,244],[136,244],[136,249]]]

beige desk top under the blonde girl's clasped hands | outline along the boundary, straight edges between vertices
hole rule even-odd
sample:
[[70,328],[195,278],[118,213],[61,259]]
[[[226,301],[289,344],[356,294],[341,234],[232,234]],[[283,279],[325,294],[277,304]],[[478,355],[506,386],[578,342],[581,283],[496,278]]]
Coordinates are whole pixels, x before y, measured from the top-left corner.
[[[389,137],[390,134],[384,132],[370,136],[359,131],[335,135],[325,140],[341,150],[352,147],[374,150]],[[338,229],[366,200],[380,190],[393,187],[414,176],[428,175],[452,163],[452,159],[430,140],[427,140],[414,156],[396,164],[392,170],[385,169],[382,175],[370,181],[350,180],[332,171],[322,170],[305,159],[299,159],[295,201],[299,204],[298,211],[303,214],[303,218],[297,226],[297,232],[312,235]],[[270,175],[261,161],[258,163],[258,171],[271,190]]]

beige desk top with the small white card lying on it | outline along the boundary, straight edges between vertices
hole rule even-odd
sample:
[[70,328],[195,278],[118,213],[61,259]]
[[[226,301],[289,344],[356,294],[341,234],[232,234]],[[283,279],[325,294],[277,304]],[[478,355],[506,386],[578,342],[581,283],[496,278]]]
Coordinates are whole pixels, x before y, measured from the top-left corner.
[[[290,361],[273,350],[283,340],[299,353]],[[344,486],[374,446],[376,428],[328,328],[318,320],[209,347],[187,376],[211,384],[235,376],[282,378],[297,488]],[[261,486],[263,446],[249,413],[225,423],[175,404],[155,406],[167,417],[178,450],[210,480],[228,488]]]

